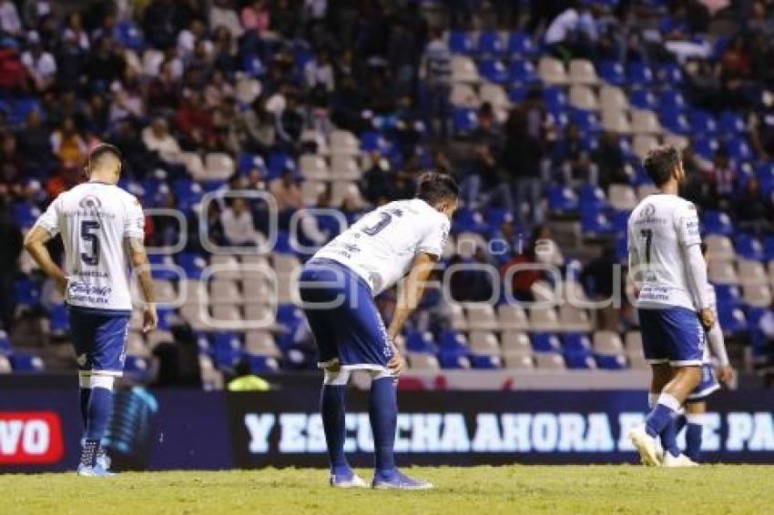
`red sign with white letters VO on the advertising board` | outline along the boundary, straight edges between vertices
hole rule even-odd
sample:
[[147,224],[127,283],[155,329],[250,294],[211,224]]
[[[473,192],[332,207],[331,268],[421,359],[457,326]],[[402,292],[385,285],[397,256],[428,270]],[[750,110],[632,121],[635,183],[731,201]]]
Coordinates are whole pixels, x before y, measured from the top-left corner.
[[54,411],[0,411],[0,464],[56,463],[65,455]]

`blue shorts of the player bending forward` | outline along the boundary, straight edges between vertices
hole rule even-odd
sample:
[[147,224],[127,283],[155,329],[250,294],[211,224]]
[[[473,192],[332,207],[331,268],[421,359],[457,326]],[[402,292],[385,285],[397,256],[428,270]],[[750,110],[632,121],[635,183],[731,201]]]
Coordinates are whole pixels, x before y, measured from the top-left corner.
[[387,369],[390,338],[360,276],[331,259],[312,259],[301,271],[299,289],[321,368]]

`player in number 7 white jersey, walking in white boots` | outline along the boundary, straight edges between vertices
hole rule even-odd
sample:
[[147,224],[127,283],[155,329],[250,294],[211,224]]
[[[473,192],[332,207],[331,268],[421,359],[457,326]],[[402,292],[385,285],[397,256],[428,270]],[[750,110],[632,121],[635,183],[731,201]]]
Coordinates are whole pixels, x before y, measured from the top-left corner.
[[715,325],[715,314],[696,207],[677,195],[685,180],[680,153],[674,146],[659,146],[648,152],[644,166],[659,191],[632,211],[628,249],[643,348],[653,369],[652,410],[629,438],[646,465],[690,466],[694,463],[677,448],[673,420],[701,379],[705,330]]

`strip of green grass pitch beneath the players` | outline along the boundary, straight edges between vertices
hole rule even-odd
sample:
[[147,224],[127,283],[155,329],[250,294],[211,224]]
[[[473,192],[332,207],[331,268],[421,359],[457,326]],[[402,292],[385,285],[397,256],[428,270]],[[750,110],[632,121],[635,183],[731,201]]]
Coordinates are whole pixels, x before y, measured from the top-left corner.
[[333,490],[325,470],[310,469],[125,473],[111,480],[73,473],[0,475],[0,513],[774,513],[774,466],[512,466],[412,473],[433,480],[436,489]]

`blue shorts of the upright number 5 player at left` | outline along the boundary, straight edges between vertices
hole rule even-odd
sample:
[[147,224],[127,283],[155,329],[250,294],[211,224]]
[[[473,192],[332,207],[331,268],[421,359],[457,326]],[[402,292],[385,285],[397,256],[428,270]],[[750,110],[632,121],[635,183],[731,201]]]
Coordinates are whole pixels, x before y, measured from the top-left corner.
[[68,306],[67,311],[78,370],[121,376],[127,358],[131,312],[76,306]]

